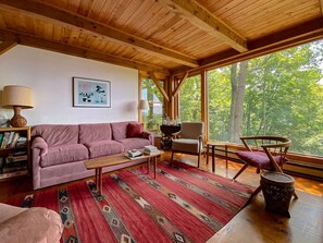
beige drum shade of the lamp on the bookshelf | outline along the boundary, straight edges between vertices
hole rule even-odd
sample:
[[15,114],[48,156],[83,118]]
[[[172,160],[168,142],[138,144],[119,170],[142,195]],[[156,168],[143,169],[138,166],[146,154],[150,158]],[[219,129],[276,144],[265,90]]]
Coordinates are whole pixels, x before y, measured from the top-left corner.
[[34,107],[33,90],[29,87],[9,85],[3,87],[2,107],[21,107],[28,109]]

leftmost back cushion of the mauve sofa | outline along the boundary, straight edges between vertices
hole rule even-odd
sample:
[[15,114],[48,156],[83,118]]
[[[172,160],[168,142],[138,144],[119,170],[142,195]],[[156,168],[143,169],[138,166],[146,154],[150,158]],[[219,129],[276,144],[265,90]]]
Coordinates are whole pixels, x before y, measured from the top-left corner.
[[42,124],[32,129],[32,136],[41,136],[49,147],[63,144],[77,144],[78,125]]

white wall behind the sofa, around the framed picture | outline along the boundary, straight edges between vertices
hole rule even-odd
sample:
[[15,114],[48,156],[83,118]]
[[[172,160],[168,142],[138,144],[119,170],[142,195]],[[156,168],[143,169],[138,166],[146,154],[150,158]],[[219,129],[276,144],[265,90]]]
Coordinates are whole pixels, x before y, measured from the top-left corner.
[[[110,81],[111,108],[73,107],[73,76]],[[0,56],[0,104],[5,85],[32,87],[35,107],[22,111],[28,125],[138,120],[137,70],[16,46]],[[1,107],[0,114],[13,111]]]

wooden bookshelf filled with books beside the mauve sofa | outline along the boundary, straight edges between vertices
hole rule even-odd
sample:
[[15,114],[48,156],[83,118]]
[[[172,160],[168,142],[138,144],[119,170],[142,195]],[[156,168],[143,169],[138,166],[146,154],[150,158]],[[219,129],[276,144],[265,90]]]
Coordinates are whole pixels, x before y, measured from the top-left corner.
[[30,126],[0,127],[0,181],[30,173]]

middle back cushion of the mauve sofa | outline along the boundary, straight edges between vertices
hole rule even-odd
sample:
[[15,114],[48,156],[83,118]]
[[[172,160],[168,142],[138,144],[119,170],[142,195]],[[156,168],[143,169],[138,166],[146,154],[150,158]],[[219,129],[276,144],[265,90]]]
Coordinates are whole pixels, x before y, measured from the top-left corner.
[[79,124],[80,144],[111,139],[112,131],[110,123]]

